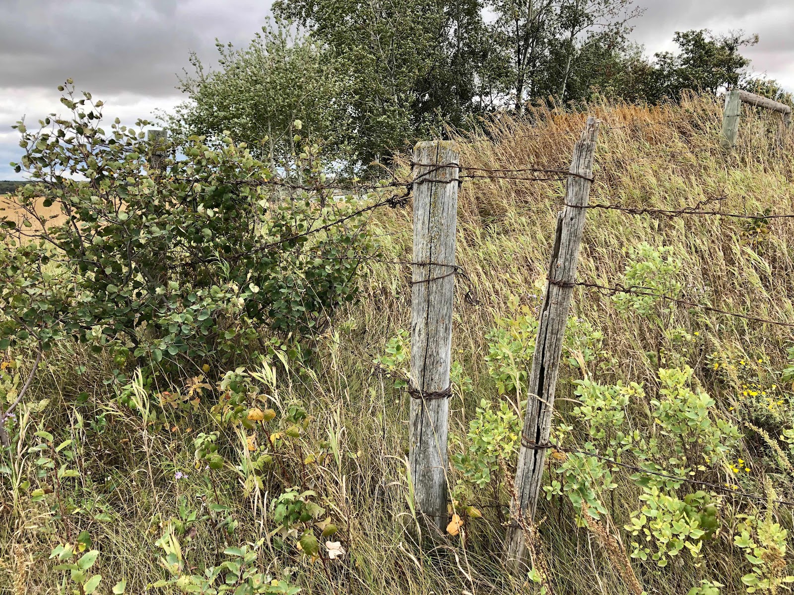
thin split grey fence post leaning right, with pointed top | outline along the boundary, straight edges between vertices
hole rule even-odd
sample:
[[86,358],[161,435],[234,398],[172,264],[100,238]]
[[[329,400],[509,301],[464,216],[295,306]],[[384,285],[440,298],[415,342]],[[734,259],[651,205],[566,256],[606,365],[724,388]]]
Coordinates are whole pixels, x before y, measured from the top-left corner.
[[554,388],[560,368],[562,341],[576,281],[576,263],[582,241],[586,207],[592,185],[593,155],[599,122],[588,117],[581,139],[573,149],[570,175],[565,190],[565,210],[557,217],[557,232],[549,262],[549,282],[541,308],[538,339],[528,379],[527,404],[518,453],[515,492],[511,501],[511,525],[507,528],[505,565],[512,574],[526,566],[527,526],[538,504],[543,478],[545,449],[548,447],[554,406]]

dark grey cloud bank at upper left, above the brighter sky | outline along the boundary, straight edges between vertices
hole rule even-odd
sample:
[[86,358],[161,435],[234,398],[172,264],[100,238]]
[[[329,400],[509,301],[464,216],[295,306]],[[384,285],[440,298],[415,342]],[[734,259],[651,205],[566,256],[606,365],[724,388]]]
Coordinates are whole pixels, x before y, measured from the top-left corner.
[[101,92],[173,94],[190,50],[249,40],[268,2],[3,0],[0,85],[52,87],[67,77]]

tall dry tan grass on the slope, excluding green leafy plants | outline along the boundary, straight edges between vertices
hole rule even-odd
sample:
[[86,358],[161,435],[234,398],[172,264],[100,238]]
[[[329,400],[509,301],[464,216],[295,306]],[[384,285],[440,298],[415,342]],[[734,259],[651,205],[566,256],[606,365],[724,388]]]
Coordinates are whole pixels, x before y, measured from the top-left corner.
[[[757,213],[769,207],[794,213],[792,140],[777,136],[773,117],[748,110],[738,147],[725,152],[719,148],[721,107],[711,98],[692,97],[681,106],[656,108],[595,104],[587,106],[586,112],[603,121],[592,202],[680,209],[724,196],[719,202],[724,211]],[[461,163],[487,168],[567,168],[585,117],[584,112],[540,108],[522,119],[502,117],[476,134],[458,138]],[[458,435],[465,432],[480,398],[499,398],[484,363],[488,352],[485,336],[495,317],[510,315],[511,296],[530,307],[538,305],[562,202],[563,188],[558,182],[476,179],[461,187],[457,258],[472,279],[480,304],[470,305],[459,298],[455,307],[453,357],[463,365],[474,387],[467,397],[453,397],[450,425]],[[410,208],[378,213],[370,226],[387,259],[410,260]],[[628,247],[643,241],[672,246],[684,262],[680,281],[699,301],[794,321],[794,286],[789,281],[792,232],[794,222],[788,219],[775,220],[769,233],[754,235],[741,221],[726,218],[635,217],[592,209],[585,228],[580,279],[603,285],[619,282]],[[276,573],[294,569],[293,580],[306,593],[532,593],[536,587],[509,578],[501,570],[503,526],[485,496],[484,518],[466,524],[461,536],[447,543],[422,549],[405,531],[414,524],[405,474],[408,399],[391,388],[391,380],[377,372],[372,360],[399,328],[409,328],[409,271],[374,261],[367,267],[360,302],[339,313],[333,328],[318,338],[313,374],[283,373],[276,389],[280,397],[300,397],[306,404],[314,416],[311,439],[333,436],[345,453],[338,466],[318,468],[310,474],[310,487],[322,493],[326,505],[345,526],[348,555],[331,569],[333,584],[317,566],[290,555],[264,557],[262,567]],[[705,293],[696,293],[697,288]],[[653,357],[658,357],[660,347],[670,347],[667,339],[641,318],[616,311],[609,298],[588,290],[576,290],[573,309],[576,317],[590,321],[605,336],[607,355],[602,365],[592,366],[588,374],[604,383],[646,382],[652,392],[658,365]],[[768,358],[765,365],[779,370],[791,338],[785,328],[698,310],[677,309],[675,324],[699,333],[687,361],[696,368],[703,386],[715,394],[726,417],[731,416],[737,387],[717,382],[704,366],[707,356],[715,351],[764,354]],[[180,499],[187,497],[200,508],[202,494],[210,494],[201,474],[191,473],[187,480],[175,482],[174,470],[191,466],[192,436],[216,428],[209,417],[195,417],[190,428],[175,419],[178,431],[152,436],[144,449],[136,418],[112,406],[96,405],[110,397],[102,384],[110,364],[93,359],[79,347],[64,345],[61,349],[60,357],[48,358],[48,377],[38,388],[41,396],[52,399],[48,410],[52,413],[39,423],[41,427],[71,428],[68,431],[81,445],[79,464],[91,470],[93,477],[84,476],[71,497],[78,508],[86,501],[98,503],[89,512],[82,508],[72,512],[69,522],[73,532],[90,532],[94,547],[102,552],[100,570],[106,577],[102,589],[124,576],[128,592],[141,593],[147,583],[164,574],[156,562],[159,551],[154,546],[164,520],[177,514]],[[79,377],[74,374],[78,365],[86,367]],[[561,378],[561,416],[571,409],[564,399],[572,396],[569,380],[578,374],[566,370]],[[75,405],[74,395],[80,391],[91,393],[92,408]],[[632,404],[636,416],[631,419],[638,428],[647,429],[644,407],[643,403]],[[112,423],[91,443],[81,440],[91,415],[102,411],[110,413]],[[227,439],[229,444],[236,441],[233,435]],[[761,489],[764,448],[750,445],[746,452],[746,457],[753,457],[753,468],[759,469]],[[232,459],[235,456],[226,454]],[[295,466],[301,464],[299,456],[293,455]],[[29,459],[18,464],[24,467],[22,472],[32,472]],[[450,482],[456,479],[450,470]],[[778,496],[791,499],[791,478],[775,479]],[[632,569],[616,567],[609,552],[619,552],[625,558],[625,546],[615,541],[613,534],[619,535],[629,512],[636,508],[638,492],[625,474],[619,482],[621,495],[610,503],[612,528],[616,529],[604,535],[576,527],[572,509],[564,502],[542,503],[538,536],[544,540],[556,593],[622,595],[635,593],[638,581],[648,592],[673,595],[686,593],[703,578],[731,585],[727,593],[742,592],[739,577],[746,573],[746,563],[730,546],[730,537],[710,544],[711,553],[700,566],[683,557],[661,570],[653,564],[635,563],[635,578],[626,584],[623,579],[631,577]],[[152,493],[152,485],[156,493]],[[226,474],[220,487],[222,503],[240,524],[241,541],[257,539],[272,528],[268,502],[278,493],[265,491],[258,500],[246,499],[234,474]],[[498,495],[505,497],[504,493]],[[730,505],[742,509],[747,503],[734,501]],[[96,520],[96,509],[108,511],[114,521]],[[0,572],[0,590],[11,593],[12,585],[18,583],[18,571],[11,570],[18,568],[13,561],[14,544],[25,544],[34,559],[25,570],[29,592],[61,592],[63,574],[53,571],[52,562],[47,561],[56,539],[64,538],[58,515],[57,509],[31,502],[23,494],[11,512],[0,516],[0,557],[9,561],[6,573]],[[790,526],[791,517],[781,512],[781,522]],[[217,562],[217,537],[210,526],[198,528],[189,550],[197,564]]]

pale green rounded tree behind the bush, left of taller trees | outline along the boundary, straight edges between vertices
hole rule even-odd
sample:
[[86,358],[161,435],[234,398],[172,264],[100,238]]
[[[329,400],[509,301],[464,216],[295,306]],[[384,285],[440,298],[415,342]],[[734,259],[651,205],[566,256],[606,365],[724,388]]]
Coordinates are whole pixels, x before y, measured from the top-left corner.
[[[344,152],[349,118],[340,101],[345,75],[317,41],[276,19],[244,49],[216,43],[218,70],[195,54],[194,72],[180,79],[189,101],[169,117],[177,140],[204,135],[245,142],[272,163],[294,157],[295,121],[334,155]],[[298,151],[299,152],[299,151]]]

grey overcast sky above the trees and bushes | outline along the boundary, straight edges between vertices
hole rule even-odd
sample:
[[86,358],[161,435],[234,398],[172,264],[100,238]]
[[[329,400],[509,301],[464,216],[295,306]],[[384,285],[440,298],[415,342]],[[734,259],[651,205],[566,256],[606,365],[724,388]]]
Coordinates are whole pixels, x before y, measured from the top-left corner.
[[[794,90],[792,0],[637,0],[646,13],[634,40],[649,54],[673,49],[688,29],[758,33],[746,48],[753,67]],[[105,114],[132,124],[181,100],[176,75],[188,53],[214,60],[214,40],[245,44],[268,16],[268,0],[0,0],[0,179],[19,158],[17,132],[57,111],[56,86],[75,79],[106,102]]]

